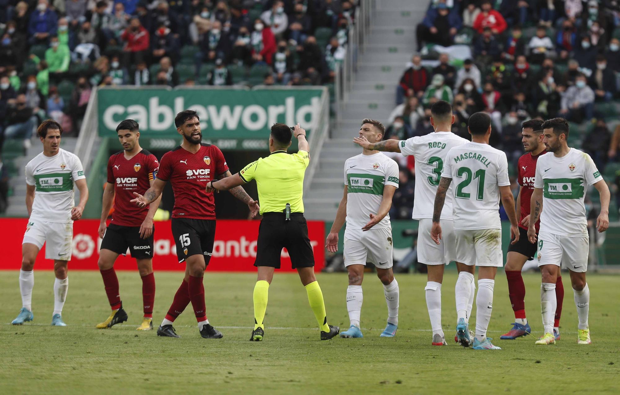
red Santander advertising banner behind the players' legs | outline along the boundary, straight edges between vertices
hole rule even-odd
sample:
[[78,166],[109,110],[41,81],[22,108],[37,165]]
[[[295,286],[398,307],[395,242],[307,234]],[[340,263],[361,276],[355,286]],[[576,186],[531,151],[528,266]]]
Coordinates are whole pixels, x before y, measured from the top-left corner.
[[[0,235],[4,248],[0,269],[17,270],[22,262],[22,238],[28,219],[0,219]],[[185,264],[178,263],[176,245],[170,221],[155,222],[155,241],[153,269],[185,271]],[[208,271],[253,272],[256,258],[256,240],[259,235],[259,221],[218,220],[215,231],[213,256]],[[97,235],[99,220],[82,219],[73,223],[73,253],[69,269],[98,270],[99,246]],[[325,224],[322,221],[308,221],[308,235],[314,250],[315,270],[325,266]],[[35,270],[51,270],[53,261],[45,259],[45,246],[37,256]],[[136,270],[136,260],[131,256],[119,256],[115,265],[117,270]],[[291,260],[286,250],[281,254],[281,271],[292,271]]]

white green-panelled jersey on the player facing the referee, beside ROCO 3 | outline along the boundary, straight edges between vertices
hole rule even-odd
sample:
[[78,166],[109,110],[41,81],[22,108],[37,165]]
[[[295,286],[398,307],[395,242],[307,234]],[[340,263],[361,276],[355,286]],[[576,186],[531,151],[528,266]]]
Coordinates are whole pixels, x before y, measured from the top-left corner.
[[[347,185],[347,228],[361,229],[377,214],[383,200],[383,187],[398,188],[398,165],[379,152],[373,155],[355,155],[345,161]],[[390,227],[389,214],[373,229]]]

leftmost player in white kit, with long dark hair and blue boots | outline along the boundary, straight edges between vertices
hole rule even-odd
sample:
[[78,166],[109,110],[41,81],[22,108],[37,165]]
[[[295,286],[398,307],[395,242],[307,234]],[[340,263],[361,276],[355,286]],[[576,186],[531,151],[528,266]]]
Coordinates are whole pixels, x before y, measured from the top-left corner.
[[[25,168],[29,220],[22,242],[22,269],[19,271],[22,309],[12,321],[14,325],[21,325],[34,318],[33,268],[37,254],[45,243],[45,258],[54,260],[56,275],[51,324],[66,326],[61,314],[69,288],[67,262],[71,259],[73,221],[82,217],[88,200],[88,188],[79,158],[60,148],[62,134],[63,128],[56,121],[43,121],[37,129],[37,135],[43,143],[43,152],[30,160]],[[74,206],[74,186],[79,189],[78,206]]]

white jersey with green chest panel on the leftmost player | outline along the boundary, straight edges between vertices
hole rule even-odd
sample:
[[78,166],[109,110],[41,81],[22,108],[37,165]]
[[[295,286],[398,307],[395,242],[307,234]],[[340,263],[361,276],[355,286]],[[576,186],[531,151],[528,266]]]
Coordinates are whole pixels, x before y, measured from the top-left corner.
[[78,156],[64,149],[47,157],[38,154],[26,165],[26,183],[35,186],[31,219],[73,222],[74,182],[86,178]]

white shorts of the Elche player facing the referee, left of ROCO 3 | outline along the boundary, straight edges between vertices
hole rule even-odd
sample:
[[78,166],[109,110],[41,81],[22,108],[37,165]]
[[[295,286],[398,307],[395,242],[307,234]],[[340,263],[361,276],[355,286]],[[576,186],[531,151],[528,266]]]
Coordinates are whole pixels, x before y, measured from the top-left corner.
[[374,264],[379,269],[393,266],[392,228],[371,228],[366,232],[361,229],[345,229],[344,258],[345,266]]

